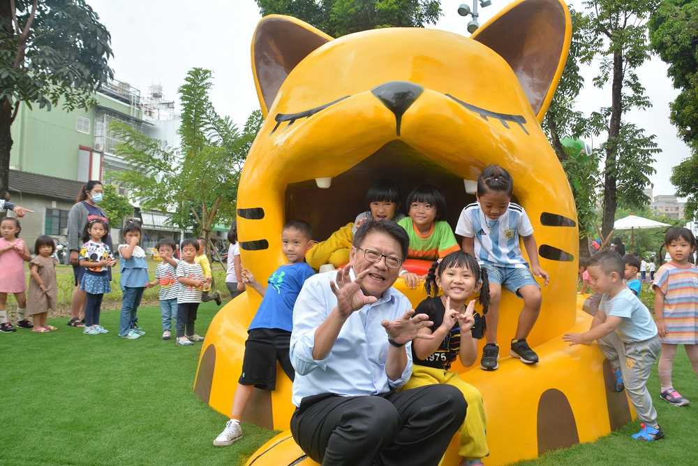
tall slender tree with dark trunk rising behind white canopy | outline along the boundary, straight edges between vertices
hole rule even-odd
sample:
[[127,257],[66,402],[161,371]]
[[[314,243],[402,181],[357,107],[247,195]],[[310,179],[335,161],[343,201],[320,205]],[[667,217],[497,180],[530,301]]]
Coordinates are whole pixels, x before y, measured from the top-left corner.
[[646,203],[644,187],[654,173],[653,155],[660,152],[655,136],[623,121],[632,108],[646,109],[651,103],[635,70],[649,57],[647,18],[657,8],[657,0],[587,0],[589,27],[598,38],[595,52],[600,70],[594,85],[611,85],[611,105],[593,112],[591,131],[607,135],[600,147],[605,156],[602,233],[607,235],[618,208],[618,189],[623,202]]

